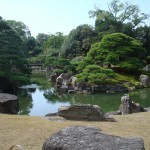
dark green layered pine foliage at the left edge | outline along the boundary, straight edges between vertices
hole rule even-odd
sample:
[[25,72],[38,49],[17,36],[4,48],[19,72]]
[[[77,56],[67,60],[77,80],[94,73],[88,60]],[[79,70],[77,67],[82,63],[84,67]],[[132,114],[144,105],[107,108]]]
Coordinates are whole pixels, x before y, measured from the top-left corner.
[[0,19],[0,76],[19,84],[28,81],[29,74],[29,64],[22,53],[21,38]]

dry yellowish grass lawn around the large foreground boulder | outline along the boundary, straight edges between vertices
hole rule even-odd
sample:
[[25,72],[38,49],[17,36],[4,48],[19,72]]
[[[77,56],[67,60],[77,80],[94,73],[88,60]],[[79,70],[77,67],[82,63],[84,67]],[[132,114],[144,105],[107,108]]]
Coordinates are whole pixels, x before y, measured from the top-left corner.
[[141,137],[145,149],[150,150],[150,112],[113,117],[117,122],[59,122],[45,120],[43,117],[0,114],[0,150],[9,150],[13,145],[21,145],[24,150],[41,150],[43,142],[50,135],[73,125],[96,126],[104,133],[121,137]]

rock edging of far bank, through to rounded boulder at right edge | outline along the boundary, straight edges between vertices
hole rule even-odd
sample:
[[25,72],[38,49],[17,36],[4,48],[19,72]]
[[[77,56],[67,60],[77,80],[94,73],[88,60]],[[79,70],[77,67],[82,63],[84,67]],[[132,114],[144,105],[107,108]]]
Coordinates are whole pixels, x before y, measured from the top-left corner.
[[118,93],[118,92],[128,92],[135,90],[136,88],[144,88],[150,86],[150,78],[147,75],[140,75],[139,82],[135,85],[129,81],[120,81],[120,83],[102,83],[90,85],[87,82],[78,82],[77,77],[70,76],[68,74],[62,73],[59,76],[51,76],[50,81],[56,82],[56,87],[58,90],[68,91],[68,93],[73,92],[83,92],[83,93]]

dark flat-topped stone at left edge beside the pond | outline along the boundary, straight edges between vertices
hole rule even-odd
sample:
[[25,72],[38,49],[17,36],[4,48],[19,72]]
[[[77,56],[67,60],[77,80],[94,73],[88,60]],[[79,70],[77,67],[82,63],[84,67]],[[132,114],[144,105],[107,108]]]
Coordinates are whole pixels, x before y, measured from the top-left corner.
[[17,96],[0,93],[0,113],[17,114],[19,112],[19,101]]

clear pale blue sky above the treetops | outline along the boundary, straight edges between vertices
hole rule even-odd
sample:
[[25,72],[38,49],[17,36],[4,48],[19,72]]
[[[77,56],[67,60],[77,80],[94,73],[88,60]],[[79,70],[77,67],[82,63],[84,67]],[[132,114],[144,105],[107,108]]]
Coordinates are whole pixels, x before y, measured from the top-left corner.
[[[32,36],[38,33],[69,34],[82,24],[94,26],[95,19],[88,12],[97,6],[107,10],[111,0],[0,0],[0,16],[5,20],[23,22]],[[150,14],[149,0],[121,0],[138,5],[142,12]],[[150,25],[150,23],[149,23]]]

